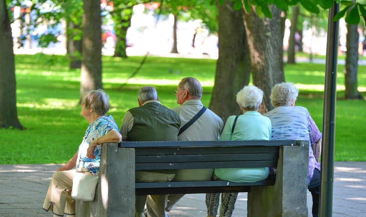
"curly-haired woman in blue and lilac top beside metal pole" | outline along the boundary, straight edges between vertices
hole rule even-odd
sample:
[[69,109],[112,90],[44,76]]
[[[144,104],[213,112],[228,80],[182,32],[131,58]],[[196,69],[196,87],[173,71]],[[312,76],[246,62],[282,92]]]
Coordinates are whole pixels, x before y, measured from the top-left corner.
[[[295,106],[299,90],[293,83],[283,82],[272,88],[271,103],[275,107],[264,116],[272,123],[272,140],[309,141],[309,181],[308,189],[313,196],[313,217],[318,216],[321,137],[317,125],[305,107]],[[270,173],[276,174],[276,168]]]

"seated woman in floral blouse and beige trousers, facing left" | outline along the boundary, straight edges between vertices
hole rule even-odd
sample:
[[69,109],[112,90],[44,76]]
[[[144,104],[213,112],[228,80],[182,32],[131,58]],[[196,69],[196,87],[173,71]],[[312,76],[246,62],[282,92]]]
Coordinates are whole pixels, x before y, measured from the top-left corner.
[[[81,115],[89,122],[79,150],[53,174],[43,209],[53,216],[75,215],[75,199],[71,197],[72,180],[76,170],[89,176],[98,176],[100,144],[121,141],[119,128],[109,110],[109,97],[102,89],[83,95]],[[79,157],[80,156],[80,157]],[[77,161],[79,157],[79,162]],[[78,162],[78,164],[76,164]],[[76,166],[76,170],[73,169]]]

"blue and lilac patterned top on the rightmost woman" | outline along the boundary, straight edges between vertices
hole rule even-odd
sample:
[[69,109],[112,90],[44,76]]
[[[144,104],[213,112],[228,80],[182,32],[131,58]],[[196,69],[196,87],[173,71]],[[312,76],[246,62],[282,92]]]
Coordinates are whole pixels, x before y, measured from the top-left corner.
[[[311,144],[317,142],[322,134],[313,118],[311,118],[309,111],[302,106],[279,106],[263,116],[271,120],[272,140],[309,140],[310,183],[313,178],[314,168],[320,170],[320,163],[315,161]],[[276,170],[273,172],[276,173]]]

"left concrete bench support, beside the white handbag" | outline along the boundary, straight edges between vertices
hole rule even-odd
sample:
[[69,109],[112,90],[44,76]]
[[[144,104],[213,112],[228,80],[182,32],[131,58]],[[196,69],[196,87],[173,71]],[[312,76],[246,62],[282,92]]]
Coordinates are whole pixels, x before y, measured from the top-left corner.
[[99,184],[94,201],[76,201],[76,217],[135,216],[135,150],[101,146]]

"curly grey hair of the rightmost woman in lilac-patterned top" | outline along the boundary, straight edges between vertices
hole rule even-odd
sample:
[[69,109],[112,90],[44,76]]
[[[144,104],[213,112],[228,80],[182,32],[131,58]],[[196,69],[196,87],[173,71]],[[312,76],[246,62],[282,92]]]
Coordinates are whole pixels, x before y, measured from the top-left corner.
[[272,88],[269,98],[274,107],[290,106],[291,100],[294,99],[296,101],[298,95],[299,89],[294,86],[294,83],[282,82]]

